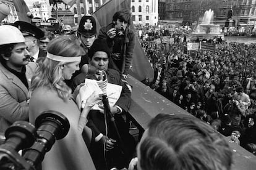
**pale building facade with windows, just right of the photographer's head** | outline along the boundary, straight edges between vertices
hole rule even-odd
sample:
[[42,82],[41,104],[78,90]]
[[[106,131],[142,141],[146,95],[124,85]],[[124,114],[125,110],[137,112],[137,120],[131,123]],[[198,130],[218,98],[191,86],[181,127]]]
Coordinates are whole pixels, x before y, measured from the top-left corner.
[[158,23],[158,0],[130,0],[134,25],[153,25]]

